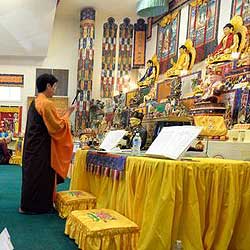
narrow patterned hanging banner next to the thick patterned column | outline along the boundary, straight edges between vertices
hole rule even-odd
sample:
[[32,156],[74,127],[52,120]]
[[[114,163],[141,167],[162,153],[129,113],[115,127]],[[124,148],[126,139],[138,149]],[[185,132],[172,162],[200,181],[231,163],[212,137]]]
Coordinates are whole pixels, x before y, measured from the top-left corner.
[[113,17],[103,25],[101,97],[111,98],[114,92],[117,24]]

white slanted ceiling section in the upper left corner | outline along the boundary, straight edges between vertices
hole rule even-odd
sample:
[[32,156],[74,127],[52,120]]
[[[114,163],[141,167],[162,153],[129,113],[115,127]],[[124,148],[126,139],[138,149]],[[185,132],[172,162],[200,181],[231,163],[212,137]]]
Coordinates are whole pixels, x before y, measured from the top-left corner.
[[45,57],[56,0],[0,0],[0,57]]

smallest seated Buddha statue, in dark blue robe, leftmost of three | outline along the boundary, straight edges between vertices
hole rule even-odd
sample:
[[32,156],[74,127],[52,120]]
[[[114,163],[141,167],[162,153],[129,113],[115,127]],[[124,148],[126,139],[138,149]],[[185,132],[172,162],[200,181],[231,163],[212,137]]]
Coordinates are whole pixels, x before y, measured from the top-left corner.
[[147,61],[147,69],[144,76],[139,80],[139,87],[151,87],[155,84],[159,76],[159,62],[157,55],[154,55],[151,60]]

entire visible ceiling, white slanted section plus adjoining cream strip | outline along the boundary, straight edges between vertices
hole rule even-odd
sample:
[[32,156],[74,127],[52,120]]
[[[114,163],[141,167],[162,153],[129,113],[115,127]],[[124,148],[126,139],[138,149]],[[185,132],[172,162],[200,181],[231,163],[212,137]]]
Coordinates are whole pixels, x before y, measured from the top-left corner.
[[105,15],[136,16],[136,0],[0,0],[0,61],[47,56],[55,13],[79,18],[84,7]]

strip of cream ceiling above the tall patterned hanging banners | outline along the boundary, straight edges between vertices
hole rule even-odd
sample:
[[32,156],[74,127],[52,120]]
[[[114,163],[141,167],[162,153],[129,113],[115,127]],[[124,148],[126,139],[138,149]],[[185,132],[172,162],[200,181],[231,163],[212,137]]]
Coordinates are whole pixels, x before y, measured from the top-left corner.
[[93,7],[106,15],[136,16],[137,0],[61,0],[57,14],[63,16],[80,15],[84,7]]

